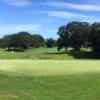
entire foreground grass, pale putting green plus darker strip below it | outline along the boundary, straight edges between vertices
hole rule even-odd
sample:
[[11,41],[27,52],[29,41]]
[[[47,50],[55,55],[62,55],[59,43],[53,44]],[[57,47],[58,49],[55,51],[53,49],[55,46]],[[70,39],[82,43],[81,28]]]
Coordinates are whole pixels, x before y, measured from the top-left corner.
[[100,61],[0,60],[0,100],[100,100]]

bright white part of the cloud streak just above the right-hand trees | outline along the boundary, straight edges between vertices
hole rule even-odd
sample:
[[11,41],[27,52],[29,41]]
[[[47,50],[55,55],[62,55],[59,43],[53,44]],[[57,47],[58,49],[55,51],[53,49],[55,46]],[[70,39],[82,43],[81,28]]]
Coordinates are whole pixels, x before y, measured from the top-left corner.
[[100,21],[100,19],[95,16],[82,15],[82,14],[76,14],[70,12],[49,11],[47,13],[51,17],[65,18],[70,20],[86,21],[90,23]]

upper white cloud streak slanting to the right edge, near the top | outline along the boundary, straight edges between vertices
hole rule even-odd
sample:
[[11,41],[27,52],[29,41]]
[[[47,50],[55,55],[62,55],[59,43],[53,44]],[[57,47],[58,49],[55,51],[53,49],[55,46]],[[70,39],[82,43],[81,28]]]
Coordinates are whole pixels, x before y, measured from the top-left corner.
[[51,1],[51,2],[49,1],[43,4],[52,7],[72,8],[85,11],[100,11],[100,6],[88,5],[88,4],[74,4],[74,3],[59,2],[59,1]]

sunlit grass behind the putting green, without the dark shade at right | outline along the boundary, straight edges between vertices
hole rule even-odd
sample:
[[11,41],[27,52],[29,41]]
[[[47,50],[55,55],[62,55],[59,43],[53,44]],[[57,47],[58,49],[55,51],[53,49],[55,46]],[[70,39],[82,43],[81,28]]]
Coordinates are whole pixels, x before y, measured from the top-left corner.
[[67,54],[59,54],[57,48],[33,48],[26,52],[11,52],[0,49],[0,59],[74,59]]

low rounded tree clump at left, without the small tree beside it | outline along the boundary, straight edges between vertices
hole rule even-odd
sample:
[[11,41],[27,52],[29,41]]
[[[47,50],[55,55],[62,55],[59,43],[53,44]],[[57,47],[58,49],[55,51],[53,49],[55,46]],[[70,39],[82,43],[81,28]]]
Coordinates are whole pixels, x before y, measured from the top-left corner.
[[5,47],[8,49],[28,49],[30,47],[44,46],[45,40],[41,35],[31,35],[28,32],[19,32],[17,34],[11,34],[4,36],[2,43],[5,43]]

